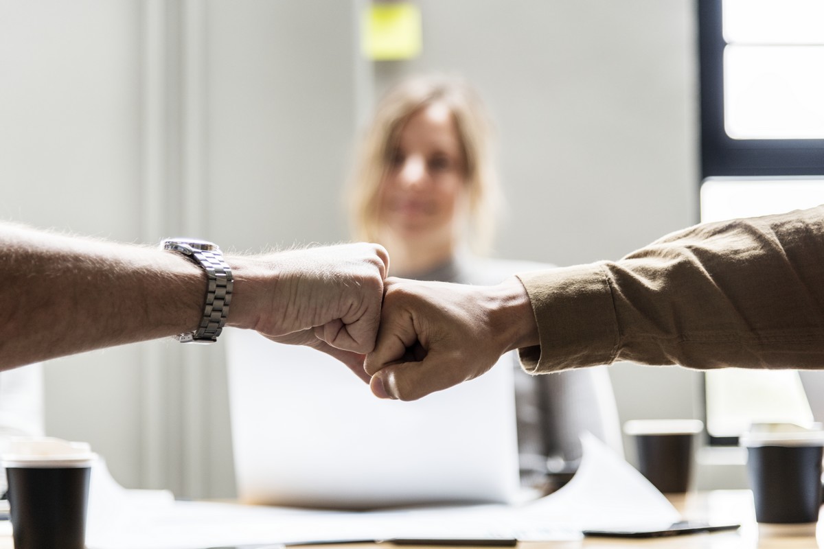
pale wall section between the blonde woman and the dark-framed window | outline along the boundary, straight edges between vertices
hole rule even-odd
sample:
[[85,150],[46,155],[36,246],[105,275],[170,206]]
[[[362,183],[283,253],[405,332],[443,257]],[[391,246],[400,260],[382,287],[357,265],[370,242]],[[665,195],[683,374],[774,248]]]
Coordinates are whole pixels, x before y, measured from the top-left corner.
[[[430,70],[479,87],[509,202],[500,256],[617,259],[698,221],[694,2],[418,3],[424,53],[378,63],[377,89]],[[695,372],[616,365],[611,378],[622,421],[700,412]]]

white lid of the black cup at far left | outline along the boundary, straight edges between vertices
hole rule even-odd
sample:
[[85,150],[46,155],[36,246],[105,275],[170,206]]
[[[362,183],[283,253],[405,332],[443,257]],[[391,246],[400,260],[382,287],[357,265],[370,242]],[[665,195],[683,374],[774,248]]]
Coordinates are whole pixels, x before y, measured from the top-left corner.
[[87,467],[97,458],[86,442],[54,437],[12,437],[0,455],[5,468]]

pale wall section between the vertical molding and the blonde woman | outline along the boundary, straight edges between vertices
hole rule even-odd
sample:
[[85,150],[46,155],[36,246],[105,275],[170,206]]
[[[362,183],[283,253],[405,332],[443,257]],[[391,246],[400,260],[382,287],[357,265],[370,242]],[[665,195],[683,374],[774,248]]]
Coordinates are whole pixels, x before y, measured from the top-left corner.
[[[353,2],[209,2],[206,238],[258,250],[347,240],[341,183],[356,131]],[[209,493],[231,493],[225,366],[210,395]]]

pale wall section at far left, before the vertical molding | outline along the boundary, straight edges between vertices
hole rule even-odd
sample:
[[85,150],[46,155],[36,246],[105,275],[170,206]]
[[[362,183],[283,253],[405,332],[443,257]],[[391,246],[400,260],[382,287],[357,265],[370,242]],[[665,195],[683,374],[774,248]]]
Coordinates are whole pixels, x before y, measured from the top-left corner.
[[[0,218],[139,234],[136,21],[137,2],[0,3]],[[47,432],[95,441],[129,485],[139,482],[139,369],[116,348],[45,370]]]

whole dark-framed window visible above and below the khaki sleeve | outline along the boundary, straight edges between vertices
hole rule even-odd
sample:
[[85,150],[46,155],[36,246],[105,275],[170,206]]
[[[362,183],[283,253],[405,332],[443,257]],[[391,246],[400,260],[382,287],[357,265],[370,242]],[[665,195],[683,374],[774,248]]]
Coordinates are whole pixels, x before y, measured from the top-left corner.
[[[701,221],[824,203],[824,0],[698,6]],[[824,420],[811,376],[824,372],[707,373],[710,443],[736,444],[755,421]]]

